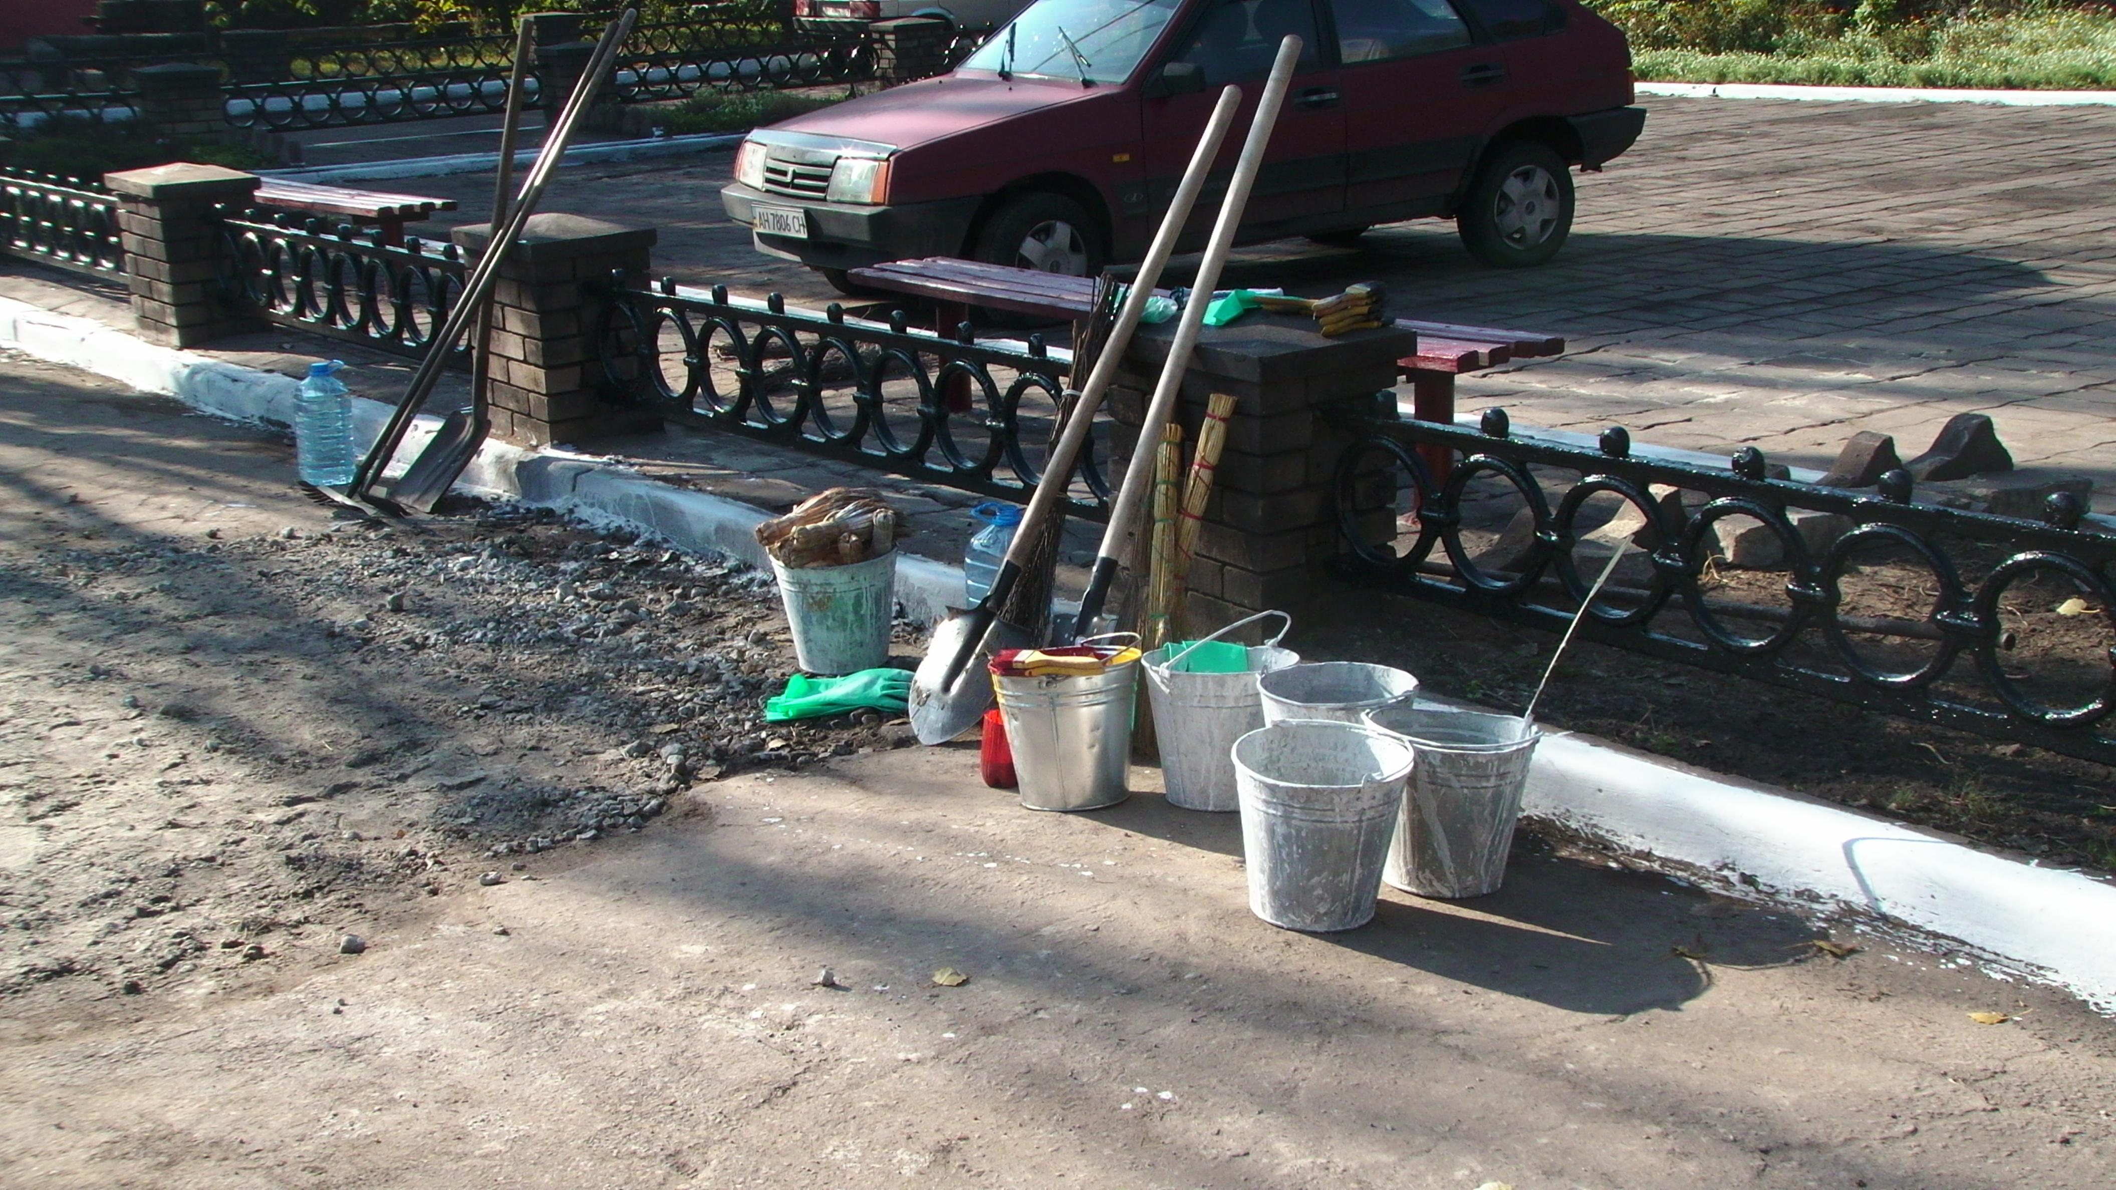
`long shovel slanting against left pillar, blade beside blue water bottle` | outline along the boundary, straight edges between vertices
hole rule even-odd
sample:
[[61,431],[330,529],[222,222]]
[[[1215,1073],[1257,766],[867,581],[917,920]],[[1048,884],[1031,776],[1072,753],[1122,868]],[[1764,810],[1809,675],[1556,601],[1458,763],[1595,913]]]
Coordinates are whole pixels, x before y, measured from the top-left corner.
[[353,472],[353,483],[347,485],[347,495],[353,500],[364,500],[377,508],[389,512],[402,512],[402,508],[375,491],[381,481],[383,468],[396,455],[398,445],[411,430],[413,419],[419,415],[419,407],[425,396],[434,392],[434,381],[440,379],[440,368],[446,362],[449,349],[455,341],[463,337],[470,320],[487,303],[493,286],[499,282],[499,267],[506,263],[514,244],[521,239],[523,229],[529,224],[529,216],[535,214],[535,205],[544,199],[544,188],[550,184],[552,172],[559,161],[565,159],[567,146],[573,142],[573,129],[580,123],[580,112],[588,106],[588,100],[603,89],[612,66],[616,66],[618,47],[633,32],[633,23],[639,19],[637,8],[626,8],[622,17],[603,30],[603,40],[597,42],[595,55],[588,57],[588,68],[580,74],[580,85],[573,87],[573,95],[567,97],[565,110],[559,112],[557,123],[552,123],[546,133],[544,148],[537,152],[535,165],[529,167],[529,176],[523,182],[521,195],[514,199],[514,210],[508,212],[506,220],[493,222],[493,239],[478,258],[476,269],[463,282],[463,292],[457,299],[453,311],[449,311],[449,322],[434,337],[427,354],[419,360],[419,368],[413,373],[411,385],[404,390],[404,398],[398,402],[389,421],[383,426],[381,436],[368,447],[368,455],[360,462]]

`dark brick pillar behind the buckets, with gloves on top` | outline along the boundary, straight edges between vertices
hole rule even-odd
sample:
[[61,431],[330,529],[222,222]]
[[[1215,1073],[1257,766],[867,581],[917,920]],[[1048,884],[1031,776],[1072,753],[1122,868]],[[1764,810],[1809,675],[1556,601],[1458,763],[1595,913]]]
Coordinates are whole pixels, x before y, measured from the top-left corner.
[[[1174,322],[1141,326],[1109,392],[1111,451],[1130,457],[1160,379]],[[1337,553],[1331,479],[1348,438],[1318,407],[1373,400],[1397,383],[1397,360],[1418,349],[1409,330],[1322,339],[1295,315],[1246,313],[1206,326],[1183,377],[1176,419],[1185,451],[1198,443],[1206,400],[1236,398],[1212,502],[1189,572],[1193,629],[1215,629],[1265,608],[1291,610]]]

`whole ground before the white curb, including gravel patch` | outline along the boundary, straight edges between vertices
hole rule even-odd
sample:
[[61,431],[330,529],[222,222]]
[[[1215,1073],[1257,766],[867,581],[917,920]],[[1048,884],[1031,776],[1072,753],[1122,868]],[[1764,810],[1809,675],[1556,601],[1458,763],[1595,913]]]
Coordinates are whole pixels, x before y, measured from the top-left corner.
[[1959,955],[1534,839],[1272,930],[1147,769],[1037,815],[969,747],[760,724],[741,570],[290,472],[0,360],[4,1186],[2116,1175],[2116,1029]]

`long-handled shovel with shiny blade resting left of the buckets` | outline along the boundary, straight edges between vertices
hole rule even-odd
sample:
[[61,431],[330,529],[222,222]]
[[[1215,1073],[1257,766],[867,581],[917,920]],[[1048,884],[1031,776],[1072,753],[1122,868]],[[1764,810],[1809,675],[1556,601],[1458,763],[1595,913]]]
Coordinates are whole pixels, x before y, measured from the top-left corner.
[[1115,326],[1109,328],[1109,341],[1102,343],[1102,351],[1094,358],[1094,373],[1079,392],[1073,415],[1066,417],[1064,432],[1058,436],[1058,445],[1043,468],[1043,479],[1037,481],[1037,491],[1028,498],[1028,508],[1022,512],[1022,523],[1014,529],[1014,542],[1007,546],[1007,557],[999,563],[992,589],[975,608],[950,610],[948,618],[933,629],[925,661],[918,663],[918,673],[912,675],[910,714],[912,733],[918,737],[918,743],[946,743],[969,731],[971,724],[984,718],[984,709],[992,705],[992,680],[984,671],[984,659],[999,650],[1037,644],[1028,637],[1028,629],[1001,620],[999,608],[1005,606],[1020,582],[1022,567],[1035,551],[1037,531],[1058,508],[1066,485],[1073,483],[1073,464],[1079,462],[1079,453],[1088,445],[1088,434],[1094,428],[1094,411],[1102,404],[1102,394],[1109,392],[1109,381],[1117,375],[1117,362],[1124,358],[1124,349],[1130,347],[1132,332],[1138,330],[1138,315],[1145,313],[1147,299],[1153,296],[1153,284],[1162,277],[1162,267],[1168,265],[1168,256],[1176,248],[1176,237],[1183,235],[1183,224],[1198,203],[1206,174],[1212,172],[1221,142],[1227,140],[1227,127],[1234,125],[1234,110],[1240,102],[1240,87],[1227,87],[1219,93],[1212,119],[1206,121],[1204,136],[1198,138],[1198,150],[1183,172],[1183,184],[1176,186],[1174,197],[1168,201],[1162,229],[1153,235],[1153,246],[1138,265],[1138,277],[1132,280],[1132,290],[1124,299],[1124,309],[1117,311]]

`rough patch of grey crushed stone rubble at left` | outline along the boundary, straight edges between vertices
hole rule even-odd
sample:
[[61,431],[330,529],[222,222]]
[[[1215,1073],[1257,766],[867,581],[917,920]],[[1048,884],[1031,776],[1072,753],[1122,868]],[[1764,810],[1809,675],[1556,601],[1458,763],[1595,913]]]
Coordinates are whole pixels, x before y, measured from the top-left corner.
[[68,544],[0,544],[0,635],[25,642],[0,659],[0,824],[30,849],[0,866],[0,995],[360,955],[391,896],[910,741],[764,722],[794,667],[770,576],[548,510]]

